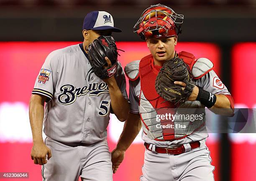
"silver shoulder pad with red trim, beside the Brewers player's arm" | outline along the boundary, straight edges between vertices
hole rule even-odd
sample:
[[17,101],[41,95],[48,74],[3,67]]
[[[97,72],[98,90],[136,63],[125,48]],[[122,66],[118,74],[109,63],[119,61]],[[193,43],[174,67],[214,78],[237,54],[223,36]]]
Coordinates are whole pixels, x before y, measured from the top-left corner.
[[139,63],[140,60],[135,60],[133,62],[128,63],[125,66],[124,72],[129,80],[134,81],[139,77]]

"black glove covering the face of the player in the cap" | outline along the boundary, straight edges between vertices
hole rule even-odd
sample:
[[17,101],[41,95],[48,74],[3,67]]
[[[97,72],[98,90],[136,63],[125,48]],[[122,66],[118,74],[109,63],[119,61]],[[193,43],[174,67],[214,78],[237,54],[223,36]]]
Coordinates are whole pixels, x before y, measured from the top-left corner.
[[[95,39],[88,47],[88,55],[92,72],[97,77],[107,79],[115,74],[118,52],[112,36],[100,36]],[[108,67],[105,57],[109,58],[111,67]]]

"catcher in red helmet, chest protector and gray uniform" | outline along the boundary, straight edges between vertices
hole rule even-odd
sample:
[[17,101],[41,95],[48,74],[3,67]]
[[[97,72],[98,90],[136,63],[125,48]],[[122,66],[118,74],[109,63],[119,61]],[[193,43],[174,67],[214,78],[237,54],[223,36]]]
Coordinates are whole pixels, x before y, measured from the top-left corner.
[[134,26],[151,54],[125,66],[130,111],[112,151],[114,173],[142,128],[146,151],[140,181],[214,181],[205,144],[205,107],[232,116],[234,101],[210,60],[176,53],[183,19],[172,8],[157,4],[148,7]]

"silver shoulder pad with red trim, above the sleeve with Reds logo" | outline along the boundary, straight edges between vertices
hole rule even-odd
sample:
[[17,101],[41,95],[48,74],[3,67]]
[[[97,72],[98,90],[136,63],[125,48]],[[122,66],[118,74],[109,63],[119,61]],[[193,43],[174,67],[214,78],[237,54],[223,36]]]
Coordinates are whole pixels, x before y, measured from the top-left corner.
[[207,58],[199,58],[192,67],[192,76],[194,79],[200,79],[213,69],[213,63]]

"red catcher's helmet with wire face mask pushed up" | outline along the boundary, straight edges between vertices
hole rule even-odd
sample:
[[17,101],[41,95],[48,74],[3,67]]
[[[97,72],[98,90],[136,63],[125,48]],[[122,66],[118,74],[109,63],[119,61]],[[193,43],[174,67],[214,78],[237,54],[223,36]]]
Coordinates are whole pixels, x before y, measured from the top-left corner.
[[143,40],[146,37],[172,37],[181,33],[184,15],[178,15],[171,8],[157,4],[148,7],[133,27]]

